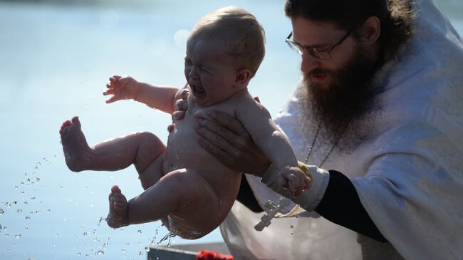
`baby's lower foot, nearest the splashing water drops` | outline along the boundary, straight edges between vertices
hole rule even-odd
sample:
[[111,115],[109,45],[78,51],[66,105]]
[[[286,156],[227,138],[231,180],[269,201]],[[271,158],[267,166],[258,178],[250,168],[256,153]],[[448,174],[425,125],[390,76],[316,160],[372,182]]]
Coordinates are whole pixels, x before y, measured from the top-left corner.
[[117,229],[128,225],[127,204],[119,187],[113,186],[109,194],[109,214],[106,218],[109,227]]

